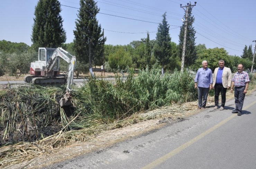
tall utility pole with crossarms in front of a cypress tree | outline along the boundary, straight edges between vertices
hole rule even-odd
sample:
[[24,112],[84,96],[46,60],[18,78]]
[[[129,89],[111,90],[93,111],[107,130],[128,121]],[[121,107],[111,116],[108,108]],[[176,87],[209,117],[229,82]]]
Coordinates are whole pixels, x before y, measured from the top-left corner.
[[[196,4],[196,2],[195,2],[195,4]],[[183,50],[182,50],[182,61],[181,61],[181,71],[182,72],[183,72],[184,64],[185,64],[185,51],[186,51],[186,39],[187,39],[189,7],[193,8],[195,6],[195,4],[194,5],[190,5],[189,3],[187,3],[187,6],[183,6],[183,7],[182,7],[182,4],[180,4],[181,8],[183,8],[184,11],[186,12],[184,40],[183,40]]]

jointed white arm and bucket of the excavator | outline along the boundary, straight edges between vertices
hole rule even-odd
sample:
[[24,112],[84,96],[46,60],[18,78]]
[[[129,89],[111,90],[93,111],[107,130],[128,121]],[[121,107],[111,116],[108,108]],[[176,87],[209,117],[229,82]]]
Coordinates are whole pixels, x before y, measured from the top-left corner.
[[[70,56],[70,57],[68,57]],[[45,70],[47,73],[50,73],[53,71],[54,66],[58,62],[58,58],[61,58],[65,60],[69,65],[68,65],[68,72],[67,72],[67,89],[66,89],[66,94],[64,95],[63,98],[59,101],[60,106],[68,106],[71,104],[71,94],[72,94],[72,88],[71,85],[73,83],[73,78],[74,78],[74,72],[75,72],[75,64],[76,64],[76,59],[75,56],[71,55],[61,47],[58,47],[51,59],[48,60],[47,65],[45,67]]]

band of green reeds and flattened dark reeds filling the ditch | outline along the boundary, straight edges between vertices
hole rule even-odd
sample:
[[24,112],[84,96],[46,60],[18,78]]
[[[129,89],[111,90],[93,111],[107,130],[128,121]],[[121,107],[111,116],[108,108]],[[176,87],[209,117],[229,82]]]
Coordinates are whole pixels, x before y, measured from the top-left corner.
[[63,130],[76,130],[108,125],[137,112],[190,102],[197,97],[193,78],[187,72],[175,70],[162,76],[161,68],[155,65],[139,71],[134,78],[134,71],[129,68],[127,71],[126,78],[116,75],[115,81],[90,78],[73,90],[71,107],[60,107],[57,103],[65,93],[65,86],[9,89],[0,98],[0,125],[4,128],[1,139],[39,140],[53,134],[47,134],[47,127],[60,130],[66,126]]

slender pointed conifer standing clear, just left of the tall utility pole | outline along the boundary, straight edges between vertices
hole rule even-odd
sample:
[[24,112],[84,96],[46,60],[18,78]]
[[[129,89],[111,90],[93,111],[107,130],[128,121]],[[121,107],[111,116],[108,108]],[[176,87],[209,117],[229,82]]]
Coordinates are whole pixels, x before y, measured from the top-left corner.
[[169,62],[171,53],[171,37],[169,34],[170,26],[166,21],[166,12],[163,14],[162,23],[159,23],[156,33],[156,43],[154,46],[154,56],[162,66],[162,74],[164,65]]

